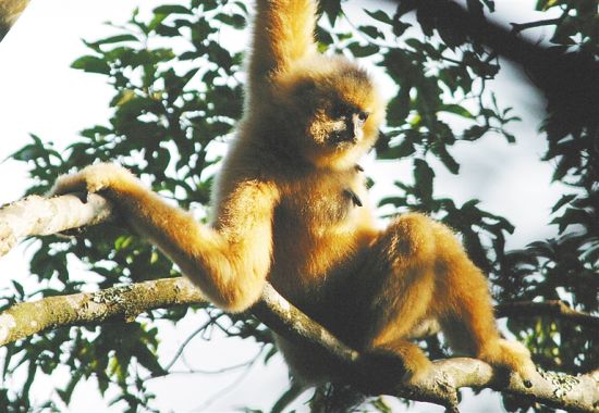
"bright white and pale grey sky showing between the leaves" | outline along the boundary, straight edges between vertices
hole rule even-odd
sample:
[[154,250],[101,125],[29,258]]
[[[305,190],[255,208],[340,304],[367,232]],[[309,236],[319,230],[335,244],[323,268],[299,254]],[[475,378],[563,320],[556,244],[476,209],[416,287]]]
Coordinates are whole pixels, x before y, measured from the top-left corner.
[[[164,2],[33,0],[0,42],[0,160],[27,143],[32,133],[44,140],[54,141],[58,148],[64,148],[76,138],[78,130],[105,122],[109,115],[108,101],[112,96],[106,79],[69,67],[77,57],[87,52],[81,39],[106,37],[111,28],[105,22],[124,22],[137,5],[151,9],[152,4]],[[533,4],[533,0],[497,2],[500,15],[518,22],[534,20],[534,14],[523,14],[531,10]],[[519,139],[518,145],[487,139],[484,149],[479,146],[456,146],[454,154],[463,164],[462,172],[459,176],[449,173],[439,175],[436,190],[438,196],[451,196],[461,202],[478,198],[482,201],[482,208],[508,216],[517,228],[516,234],[509,238],[509,246],[519,248],[553,234],[554,229],[547,225],[547,215],[561,188],[550,184],[551,166],[538,161],[545,150],[542,138],[537,136],[538,110],[542,108],[542,101],[514,78],[517,78],[517,72],[510,68],[494,87],[501,104],[514,105],[519,115],[524,114],[524,121],[511,128]],[[382,193],[391,187],[393,179],[411,177],[412,172],[408,163],[383,164],[377,166],[376,175],[381,183],[375,190]],[[0,163],[0,177],[3,185],[1,203],[19,199],[28,185],[23,165],[12,161]],[[0,288],[8,286],[9,279],[30,283],[26,262],[24,246],[2,258]],[[198,317],[185,318],[174,329],[164,328],[164,361],[170,360],[179,345],[200,322]],[[216,371],[244,362],[255,352],[255,346],[247,340],[198,339],[194,340],[186,358],[198,368]],[[253,366],[229,393],[210,402],[212,396],[237,380],[240,374],[239,371],[221,375],[178,374],[155,379],[150,386],[158,395],[158,405],[163,411],[222,411],[241,406],[268,409],[286,386],[286,370],[282,360],[276,358],[268,368]],[[54,379],[65,380],[66,376],[63,372]],[[48,389],[48,381],[36,385],[38,395],[46,396],[50,391]],[[94,392],[90,384],[75,392],[71,411],[106,411],[106,403]],[[463,410],[501,411],[497,396],[468,398]],[[432,409],[428,404],[417,404],[409,411],[431,412]]]

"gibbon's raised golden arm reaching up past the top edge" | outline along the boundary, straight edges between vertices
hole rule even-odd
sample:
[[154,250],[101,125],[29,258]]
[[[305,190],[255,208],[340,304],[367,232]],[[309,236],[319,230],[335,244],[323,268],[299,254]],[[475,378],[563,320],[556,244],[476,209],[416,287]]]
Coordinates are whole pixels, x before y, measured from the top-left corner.
[[293,63],[316,53],[316,2],[311,0],[257,0],[254,20],[249,87],[284,72]]

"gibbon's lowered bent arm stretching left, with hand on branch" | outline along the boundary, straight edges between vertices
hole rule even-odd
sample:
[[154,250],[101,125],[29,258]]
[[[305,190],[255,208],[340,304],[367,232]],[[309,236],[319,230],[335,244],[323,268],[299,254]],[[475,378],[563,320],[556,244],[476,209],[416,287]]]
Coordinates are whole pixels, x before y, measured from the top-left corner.
[[258,300],[272,250],[276,190],[257,180],[240,183],[219,205],[216,228],[167,204],[125,168],[95,164],[58,178],[51,195],[100,192],[124,220],[160,248],[223,310],[237,312]]

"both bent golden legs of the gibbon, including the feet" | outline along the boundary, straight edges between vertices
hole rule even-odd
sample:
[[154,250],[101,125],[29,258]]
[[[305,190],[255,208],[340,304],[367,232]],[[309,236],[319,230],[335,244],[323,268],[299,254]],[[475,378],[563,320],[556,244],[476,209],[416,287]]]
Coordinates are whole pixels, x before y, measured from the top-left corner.
[[529,380],[535,366],[528,351],[500,338],[487,280],[449,228],[406,214],[379,235],[368,254],[358,281],[370,300],[366,348],[400,355],[404,379],[427,374],[430,361],[406,338],[432,318],[454,348]]

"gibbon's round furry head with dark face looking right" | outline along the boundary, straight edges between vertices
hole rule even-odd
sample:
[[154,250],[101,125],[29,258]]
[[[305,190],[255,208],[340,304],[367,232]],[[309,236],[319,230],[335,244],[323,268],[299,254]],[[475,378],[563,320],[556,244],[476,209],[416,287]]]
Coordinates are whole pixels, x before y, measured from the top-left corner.
[[343,57],[310,57],[279,74],[281,147],[323,167],[345,168],[375,143],[384,103],[368,73]]

